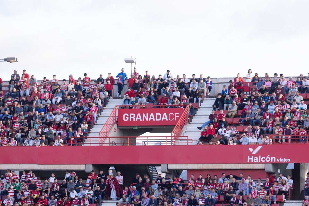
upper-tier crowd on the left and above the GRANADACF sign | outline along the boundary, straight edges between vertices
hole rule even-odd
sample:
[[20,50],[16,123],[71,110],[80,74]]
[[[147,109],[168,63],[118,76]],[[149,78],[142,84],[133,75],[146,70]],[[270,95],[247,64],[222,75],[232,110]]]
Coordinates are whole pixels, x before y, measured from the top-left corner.
[[[106,79],[91,81],[84,78],[69,80],[43,78],[37,82],[34,75],[17,70],[11,75],[7,90],[2,90],[0,78],[0,146],[63,146],[68,142],[78,145],[90,132],[100,112],[113,98],[115,79],[108,73]],[[148,74],[140,75],[134,69],[128,78],[124,69],[116,75],[118,91],[115,98],[122,98],[121,92],[127,81],[123,105],[130,108],[143,108],[146,103],[160,105],[188,104],[190,115],[194,115],[192,103],[200,104],[203,96],[210,94],[211,78],[186,78],[186,75],[173,75],[169,70],[158,78]],[[168,95],[168,97],[167,97]],[[179,106],[181,107],[181,106]],[[79,140],[79,141],[78,141]],[[77,142],[78,141],[78,142]]]

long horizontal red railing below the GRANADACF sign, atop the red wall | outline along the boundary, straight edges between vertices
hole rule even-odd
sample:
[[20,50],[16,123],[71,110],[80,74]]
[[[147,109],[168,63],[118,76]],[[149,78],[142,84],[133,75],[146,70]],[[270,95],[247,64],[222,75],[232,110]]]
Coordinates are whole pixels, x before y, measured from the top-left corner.
[[[188,136],[179,136],[182,142],[177,145],[190,145],[193,139]],[[138,142],[137,142],[138,141]],[[146,137],[106,137],[105,143],[101,142],[101,146],[138,146],[138,145],[171,145],[172,137],[170,136],[146,136]],[[69,146],[98,146],[99,137],[74,137],[66,140],[66,145]]]

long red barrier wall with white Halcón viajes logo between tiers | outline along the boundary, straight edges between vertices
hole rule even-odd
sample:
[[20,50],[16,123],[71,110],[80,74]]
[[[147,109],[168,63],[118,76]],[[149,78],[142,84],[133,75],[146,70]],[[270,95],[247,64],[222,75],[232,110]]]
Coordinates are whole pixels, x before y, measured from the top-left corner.
[[[1,164],[308,163],[308,145],[154,145],[0,147]],[[149,158],[160,151],[162,158]],[[194,151],[194,153],[192,153]],[[224,151],[224,152],[222,152]],[[195,154],[215,158],[196,158]],[[12,155],[13,154],[13,155]],[[232,158],[226,158],[233,154]],[[269,161],[268,161],[269,160]]]

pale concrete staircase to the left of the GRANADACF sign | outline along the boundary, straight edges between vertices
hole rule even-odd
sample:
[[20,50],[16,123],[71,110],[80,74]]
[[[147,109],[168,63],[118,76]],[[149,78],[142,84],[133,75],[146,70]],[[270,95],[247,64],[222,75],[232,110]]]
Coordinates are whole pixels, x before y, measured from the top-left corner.
[[[101,112],[99,119],[97,120],[95,126],[93,127],[92,131],[89,133],[89,137],[91,138],[91,146],[99,145],[99,133],[105,124],[106,120],[108,119],[109,115],[113,111],[116,105],[121,105],[122,99],[109,99],[108,104],[104,107],[104,110]],[[98,137],[98,138],[93,138]],[[84,146],[90,146],[90,140],[85,140]],[[116,205],[116,204],[115,204]]]

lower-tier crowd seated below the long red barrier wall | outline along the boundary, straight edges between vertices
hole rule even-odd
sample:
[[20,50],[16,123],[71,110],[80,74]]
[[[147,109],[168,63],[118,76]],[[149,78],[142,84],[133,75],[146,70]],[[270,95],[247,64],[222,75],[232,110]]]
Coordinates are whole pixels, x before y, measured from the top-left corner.
[[[308,197],[308,176],[305,185],[305,198]],[[61,181],[61,182],[60,182]],[[7,170],[1,175],[0,188],[3,206],[78,206],[97,203],[110,197],[119,200],[123,205],[134,206],[214,206],[218,203],[228,203],[231,206],[239,205],[271,205],[276,204],[276,198],[288,198],[288,192],[293,187],[291,175],[284,176],[276,173],[266,177],[262,183],[259,178],[254,181],[251,175],[247,178],[240,173],[214,175],[207,174],[204,179],[200,174],[198,178],[190,175],[188,183],[184,183],[178,175],[170,178],[159,174],[157,179],[151,179],[147,174],[143,178],[136,174],[131,185],[124,185],[121,172],[113,176],[112,170],[107,175],[103,170],[98,174],[92,170],[83,181],[71,170],[67,170],[64,177],[58,179],[54,173],[49,178],[37,177],[31,170],[19,177],[14,171]],[[307,187],[306,187],[307,186]],[[1,198],[0,198],[1,199]]]

